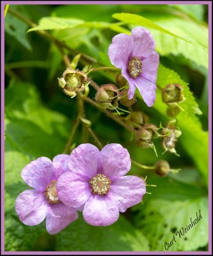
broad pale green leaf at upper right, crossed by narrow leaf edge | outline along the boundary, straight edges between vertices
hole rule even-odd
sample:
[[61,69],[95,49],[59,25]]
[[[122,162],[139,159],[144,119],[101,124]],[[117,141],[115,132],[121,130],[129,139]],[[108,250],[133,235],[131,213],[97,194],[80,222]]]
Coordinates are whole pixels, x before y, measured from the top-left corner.
[[198,66],[208,68],[209,51],[206,51],[206,49],[209,47],[209,37],[207,27],[191,20],[184,20],[170,15],[152,16],[152,20],[159,24],[159,26],[184,36],[184,38],[203,47],[201,48],[197,45],[189,44],[188,42],[175,38],[174,36],[166,35],[156,29],[150,29],[157,44],[156,49],[161,55],[183,55],[187,60],[194,61]]

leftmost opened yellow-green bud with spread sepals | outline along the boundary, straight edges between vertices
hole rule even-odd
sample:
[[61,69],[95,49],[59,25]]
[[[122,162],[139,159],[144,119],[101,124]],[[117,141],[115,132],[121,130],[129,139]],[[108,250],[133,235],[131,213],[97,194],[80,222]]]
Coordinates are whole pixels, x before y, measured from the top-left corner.
[[83,92],[86,87],[86,74],[73,68],[67,68],[62,77],[58,78],[58,84],[63,88],[63,92],[71,98],[76,96],[77,92]]

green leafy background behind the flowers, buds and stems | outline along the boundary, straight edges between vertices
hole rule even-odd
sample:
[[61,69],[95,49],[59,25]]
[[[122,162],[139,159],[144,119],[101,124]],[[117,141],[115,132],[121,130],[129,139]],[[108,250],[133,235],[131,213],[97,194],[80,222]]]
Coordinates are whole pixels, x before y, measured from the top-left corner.
[[[129,33],[134,26],[144,26],[154,36],[161,54],[158,86],[184,85],[185,111],[177,116],[183,133],[177,143],[180,157],[168,152],[162,155],[161,141],[155,144],[159,157],[151,149],[139,148],[134,140],[130,141],[128,131],[86,104],[86,116],[103,144],[121,143],[132,159],[142,164],[153,165],[166,159],[171,168],[182,168],[177,175],[162,178],[132,165],[130,174],[147,175],[148,184],[157,188],[148,187],[152,195],[145,195],[143,204],[120,214],[114,225],[91,227],[80,216],[61,233],[50,236],[45,221],[28,227],[15,213],[15,198],[27,189],[20,177],[22,168],[37,157],[52,159],[63,152],[77,108],[76,99],[64,95],[58,86],[57,77],[65,70],[58,49],[37,33],[26,33],[28,24],[14,17],[10,10],[36,24],[42,19],[36,29],[50,29],[58,40],[66,42],[72,49],[68,52],[70,58],[83,52],[106,66],[111,66],[107,50],[113,36]],[[123,24],[112,25],[120,21]],[[169,250],[208,250],[207,22],[205,5],[10,5],[5,19],[6,251],[163,251],[164,243],[170,242],[173,234],[189,224],[200,209],[202,219],[198,225]],[[79,68],[85,64],[80,61]],[[107,72],[94,73],[93,79],[98,84],[114,80]],[[91,88],[90,97],[94,95]],[[154,108],[138,100],[134,109],[146,113],[156,125],[165,125],[170,119],[160,90]],[[81,132],[78,129],[75,145],[83,143]],[[91,138],[90,143],[94,143]]]

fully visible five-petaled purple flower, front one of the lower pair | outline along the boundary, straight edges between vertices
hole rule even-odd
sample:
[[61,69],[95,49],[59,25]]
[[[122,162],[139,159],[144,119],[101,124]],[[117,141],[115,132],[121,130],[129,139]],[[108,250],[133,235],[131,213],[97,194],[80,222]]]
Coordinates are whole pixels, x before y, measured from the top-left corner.
[[130,170],[130,156],[120,144],[109,144],[101,151],[81,144],[70,155],[70,172],[57,182],[60,200],[66,205],[84,205],[84,220],[93,226],[107,226],[118,220],[119,212],[141,202],[145,183]]

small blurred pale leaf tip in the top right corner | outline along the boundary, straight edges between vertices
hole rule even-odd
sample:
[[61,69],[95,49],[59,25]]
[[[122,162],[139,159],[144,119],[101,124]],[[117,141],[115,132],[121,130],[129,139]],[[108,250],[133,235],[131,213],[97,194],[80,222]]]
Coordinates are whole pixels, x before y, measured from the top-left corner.
[[203,21],[204,9],[202,4],[170,4],[195,20]]

